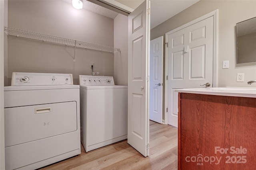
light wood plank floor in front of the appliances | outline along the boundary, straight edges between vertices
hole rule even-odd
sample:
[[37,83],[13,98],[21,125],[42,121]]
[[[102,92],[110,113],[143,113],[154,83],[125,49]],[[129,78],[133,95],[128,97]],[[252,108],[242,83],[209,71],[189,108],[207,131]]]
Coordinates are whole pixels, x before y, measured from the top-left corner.
[[178,129],[150,121],[150,156],[144,157],[127,140],[85,152],[40,170],[176,170]]

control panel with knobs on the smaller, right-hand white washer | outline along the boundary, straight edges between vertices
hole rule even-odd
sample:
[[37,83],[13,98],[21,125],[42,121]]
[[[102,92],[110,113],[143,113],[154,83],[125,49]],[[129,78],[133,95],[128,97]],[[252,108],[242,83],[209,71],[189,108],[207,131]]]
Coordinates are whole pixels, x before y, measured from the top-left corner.
[[86,76],[79,75],[79,85],[81,86],[100,86],[100,85],[115,85],[112,76]]

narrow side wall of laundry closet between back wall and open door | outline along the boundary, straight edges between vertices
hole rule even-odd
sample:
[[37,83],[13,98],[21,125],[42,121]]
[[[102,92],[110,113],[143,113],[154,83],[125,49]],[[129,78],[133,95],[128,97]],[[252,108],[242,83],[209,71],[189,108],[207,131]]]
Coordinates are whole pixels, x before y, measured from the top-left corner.
[[121,52],[114,54],[114,80],[116,85],[128,82],[128,17],[118,14],[114,19],[114,47]]

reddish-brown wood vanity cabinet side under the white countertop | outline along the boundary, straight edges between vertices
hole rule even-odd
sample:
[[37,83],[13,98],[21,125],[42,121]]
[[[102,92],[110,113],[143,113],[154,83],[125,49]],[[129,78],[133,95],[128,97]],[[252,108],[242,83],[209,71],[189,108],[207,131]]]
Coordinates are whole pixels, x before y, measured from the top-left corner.
[[256,98],[179,92],[179,170],[255,170]]

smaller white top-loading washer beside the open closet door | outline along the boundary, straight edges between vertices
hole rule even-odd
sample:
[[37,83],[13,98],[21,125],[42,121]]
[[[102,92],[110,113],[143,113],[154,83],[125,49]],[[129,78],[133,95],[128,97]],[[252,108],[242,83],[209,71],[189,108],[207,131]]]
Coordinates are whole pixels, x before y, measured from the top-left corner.
[[127,86],[111,76],[79,76],[81,142],[86,152],[127,139]]

